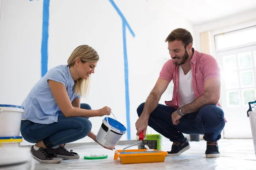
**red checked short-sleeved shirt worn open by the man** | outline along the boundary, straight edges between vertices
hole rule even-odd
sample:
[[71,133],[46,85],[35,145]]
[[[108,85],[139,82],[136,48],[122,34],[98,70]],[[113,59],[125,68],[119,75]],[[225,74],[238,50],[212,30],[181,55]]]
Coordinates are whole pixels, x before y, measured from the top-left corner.
[[[192,69],[192,86],[195,99],[204,94],[204,82],[210,78],[221,78],[220,69],[216,59],[208,54],[200,53],[192,48],[194,54],[190,60]],[[165,101],[167,106],[178,108],[177,93],[179,88],[180,72],[179,66],[174,64],[173,59],[169,59],[160,71],[160,79],[169,82],[173,80],[174,88],[171,101]],[[221,107],[220,103],[217,104]]]

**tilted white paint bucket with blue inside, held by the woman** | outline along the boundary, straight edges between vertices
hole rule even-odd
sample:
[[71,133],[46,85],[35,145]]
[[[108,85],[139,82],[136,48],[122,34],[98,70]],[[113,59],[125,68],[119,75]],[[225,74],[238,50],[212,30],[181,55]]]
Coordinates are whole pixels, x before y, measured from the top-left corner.
[[97,133],[96,140],[105,147],[114,148],[125,134],[126,127],[115,119],[106,116]]

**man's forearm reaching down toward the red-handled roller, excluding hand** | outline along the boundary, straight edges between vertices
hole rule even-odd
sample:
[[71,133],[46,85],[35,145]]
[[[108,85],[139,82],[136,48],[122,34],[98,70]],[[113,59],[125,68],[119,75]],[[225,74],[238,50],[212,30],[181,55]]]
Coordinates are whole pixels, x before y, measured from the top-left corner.
[[159,97],[157,97],[156,92],[151,91],[148,98],[146,99],[143,112],[141,116],[149,117],[152,111],[154,111],[155,108],[157,108]]

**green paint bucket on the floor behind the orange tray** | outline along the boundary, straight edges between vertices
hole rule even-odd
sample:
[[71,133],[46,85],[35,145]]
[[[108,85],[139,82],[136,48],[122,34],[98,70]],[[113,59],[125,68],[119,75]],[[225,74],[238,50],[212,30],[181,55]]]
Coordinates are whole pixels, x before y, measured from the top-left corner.
[[[137,140],[139,141],[139,136],[137,136]],[[146,138],[143,139],[141,144],[138,144],[138,149],[146,149],[145,144],[148,145],[150,149],[162,150],[162,135],[146,134]]]

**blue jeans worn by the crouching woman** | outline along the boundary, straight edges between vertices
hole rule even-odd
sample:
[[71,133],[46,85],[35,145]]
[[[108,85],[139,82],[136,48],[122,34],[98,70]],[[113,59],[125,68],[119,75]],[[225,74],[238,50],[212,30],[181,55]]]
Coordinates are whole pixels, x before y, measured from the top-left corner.
[[[81,103],[80,108],[91,110],[90,105]],[[27,142],[44,142],[48,148],[74,142],[82,139],[90,133],[92,128],[89,118],[65,117],[58,111],[58,122],[51,124],[39,124],[29,120],[21,121],[20,133]]]

